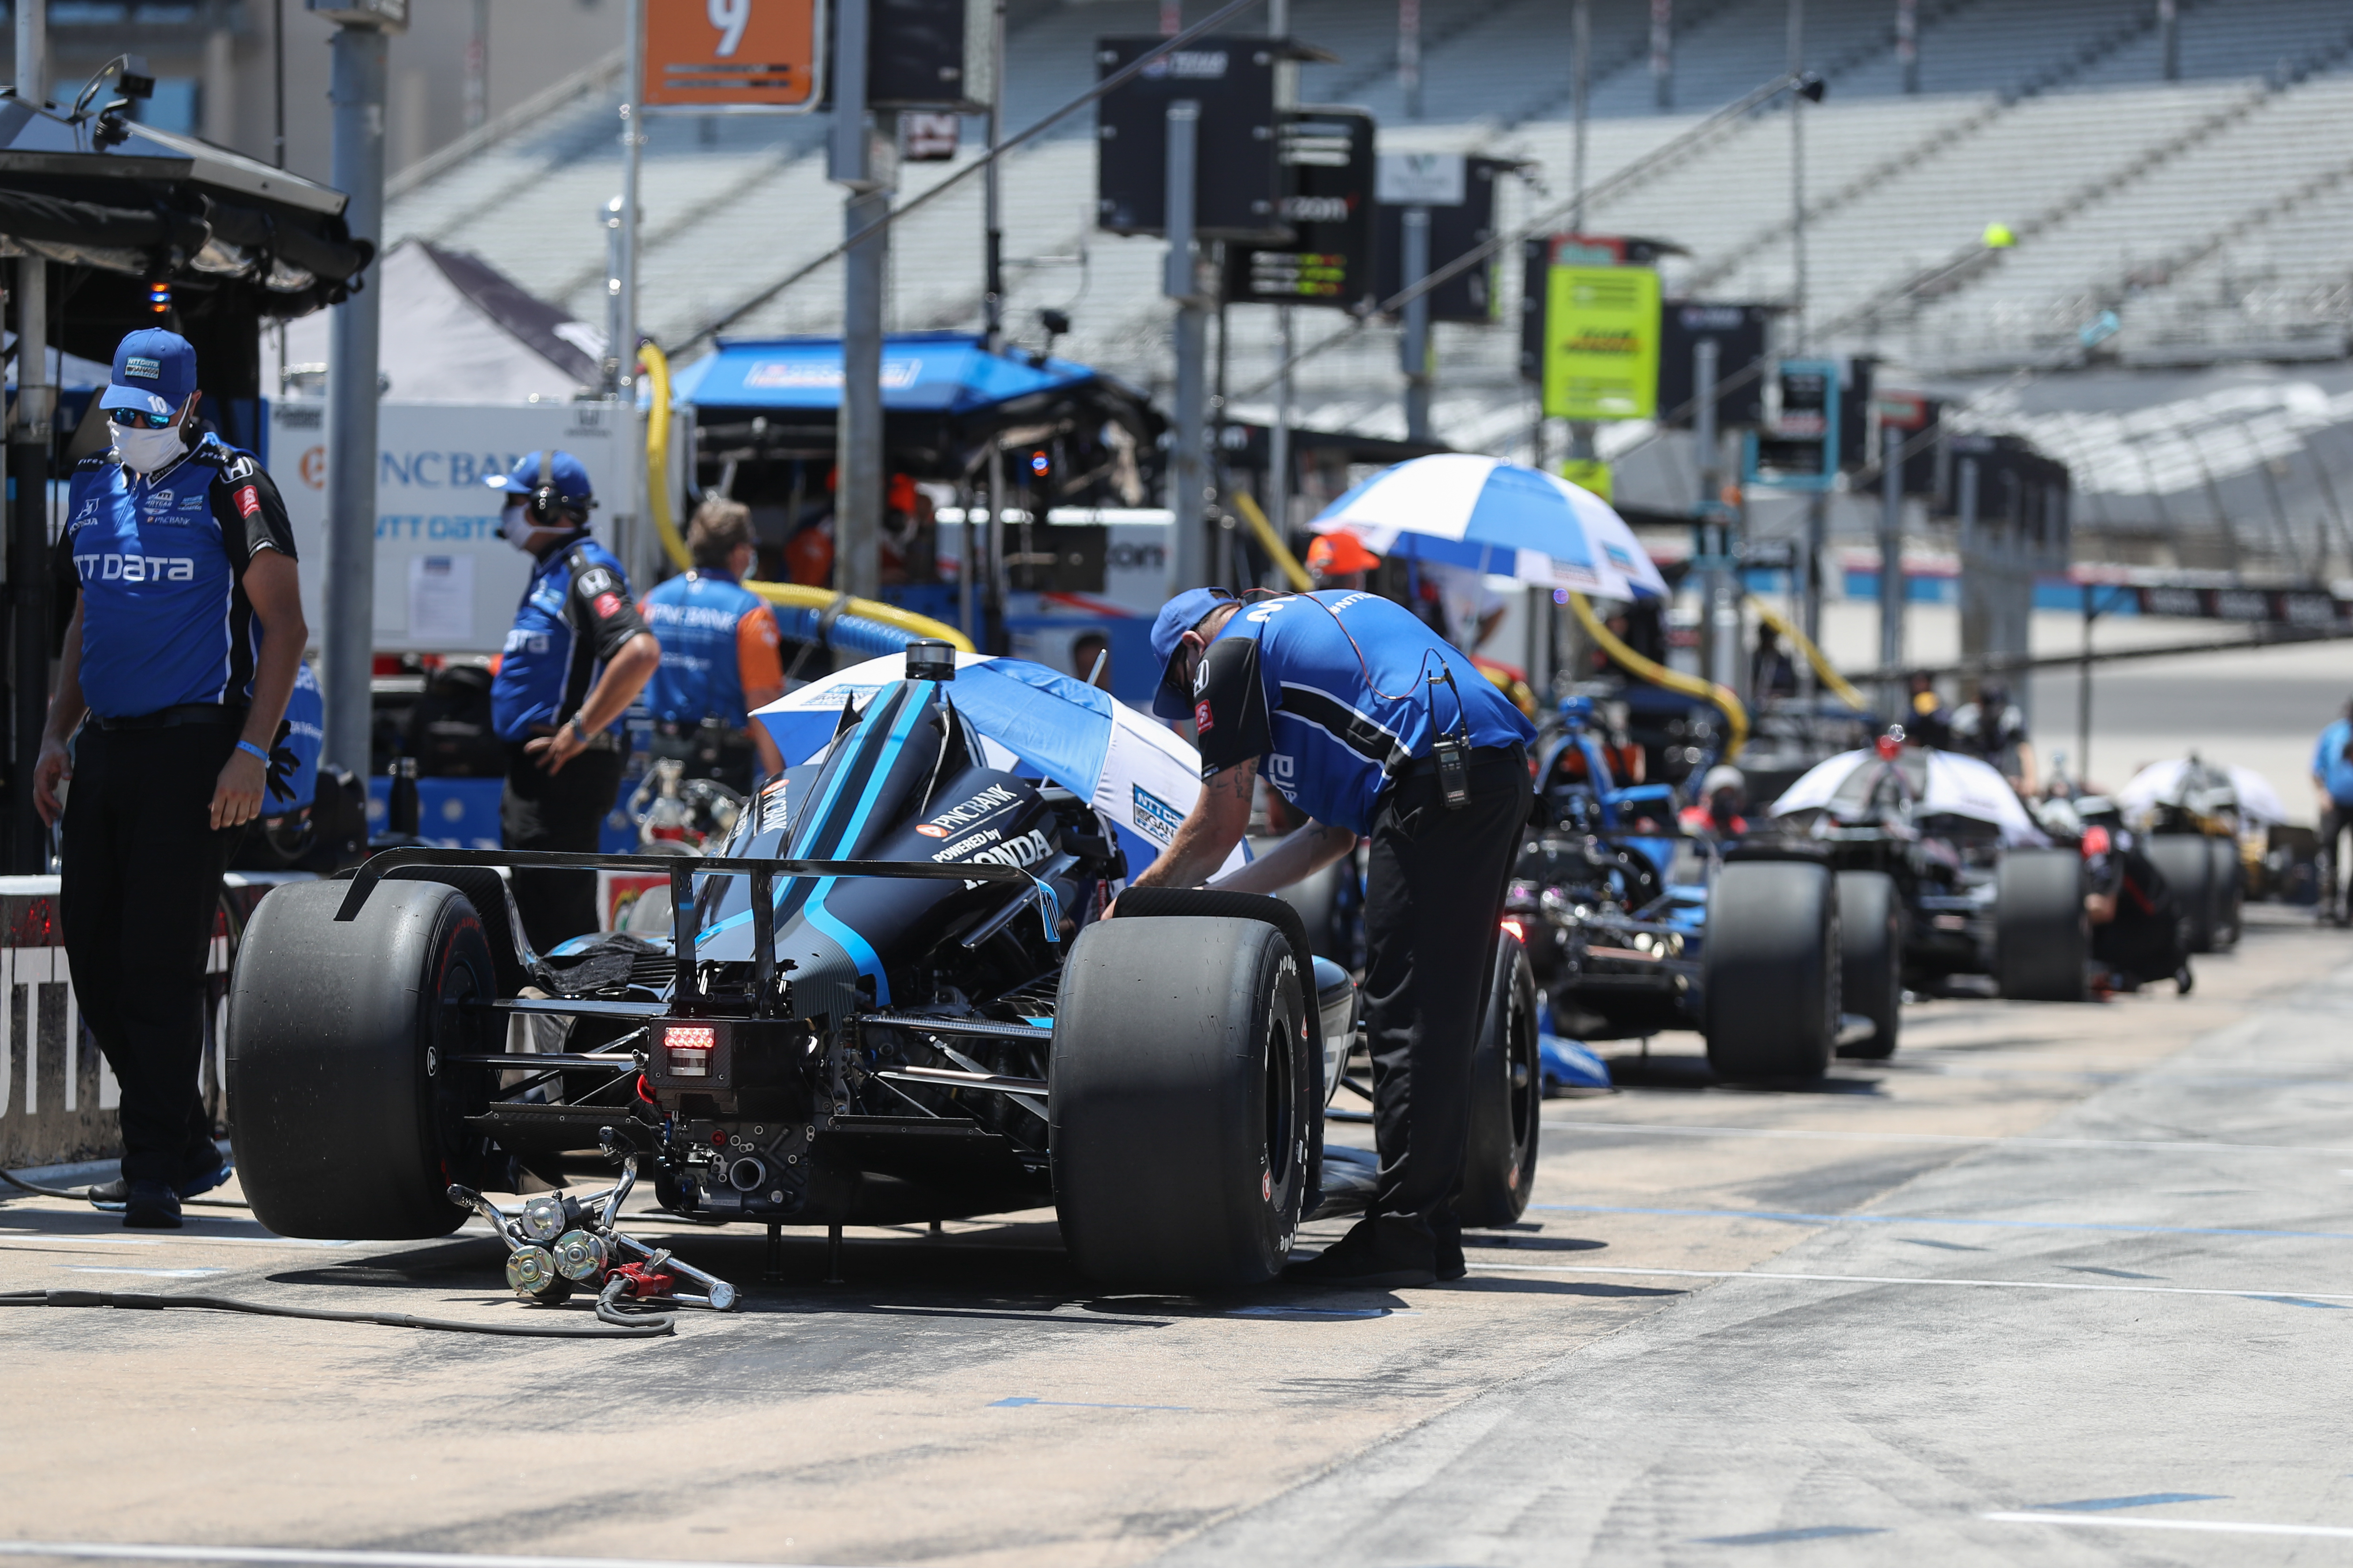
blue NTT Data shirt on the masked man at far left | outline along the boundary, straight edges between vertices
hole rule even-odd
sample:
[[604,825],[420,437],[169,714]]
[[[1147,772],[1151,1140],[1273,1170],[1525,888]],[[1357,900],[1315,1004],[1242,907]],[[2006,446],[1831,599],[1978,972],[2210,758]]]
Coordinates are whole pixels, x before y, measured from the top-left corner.
[[249,703],[261,621],[245,597],[256,550],[294,559],[278,487],[249,451],[202,437],[153,475],[82,458],[56,574],[82,597],[82,698],[108,719],[186,703]]

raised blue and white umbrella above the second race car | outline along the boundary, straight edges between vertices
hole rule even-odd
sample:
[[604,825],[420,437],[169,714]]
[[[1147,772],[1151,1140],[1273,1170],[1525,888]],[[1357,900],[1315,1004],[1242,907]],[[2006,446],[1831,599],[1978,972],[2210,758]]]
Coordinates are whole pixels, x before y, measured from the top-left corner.
[[1537,468],[1445,451],[1384,468],[1322,510],[1374,555],[1447,562],[1605,599],[1664,599],[1666,578],[1607,501]]

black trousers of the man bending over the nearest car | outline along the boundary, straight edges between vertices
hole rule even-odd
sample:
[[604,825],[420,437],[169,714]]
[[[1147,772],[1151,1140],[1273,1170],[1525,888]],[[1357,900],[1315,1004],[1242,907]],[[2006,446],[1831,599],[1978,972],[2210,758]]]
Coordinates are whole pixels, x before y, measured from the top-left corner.
[[1449,1204],[1471,1138],[1471,1056],[1529,797],[1527,752],[1482,748],[1461,811],[1438,778],[1409,776],[1372,818],[1365,1018],[1384,1246],[1459,1248]]

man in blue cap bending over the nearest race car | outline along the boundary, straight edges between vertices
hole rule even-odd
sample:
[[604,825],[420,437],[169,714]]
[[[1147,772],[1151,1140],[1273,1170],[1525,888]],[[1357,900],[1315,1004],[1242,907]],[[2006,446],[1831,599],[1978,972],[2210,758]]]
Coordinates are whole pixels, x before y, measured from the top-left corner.
[[1219,588],[1153,621],[1153,712],[1191,719],[1202,792],[1132,886],[1198,886],[1249,827],[1266,778],[1306,818],[1219,889],[1273,893],[1369,839],[1365,1004],[1372,1041],[1372,1206],[1339,1244],[1285,1269],[1332,1286],[1461,1279],[1471,1060],[1504,884],[1527,823],[1534,731],[1412,611],[1369,592],[1242,602]]

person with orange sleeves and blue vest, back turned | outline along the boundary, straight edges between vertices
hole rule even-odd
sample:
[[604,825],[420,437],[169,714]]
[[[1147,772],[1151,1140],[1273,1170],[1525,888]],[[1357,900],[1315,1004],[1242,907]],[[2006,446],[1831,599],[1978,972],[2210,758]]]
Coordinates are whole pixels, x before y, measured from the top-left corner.
[[755,708],[784,696],[776,616],[741,583],[753,562],[751,508],[708,496],[687,524],[687,555],[694,569],[638,604],[661,639],[661,668],[645,691],[654,755],[682,759],[687,778],[751,795],[758,778],[784,771],[774,736],[751,722]]

